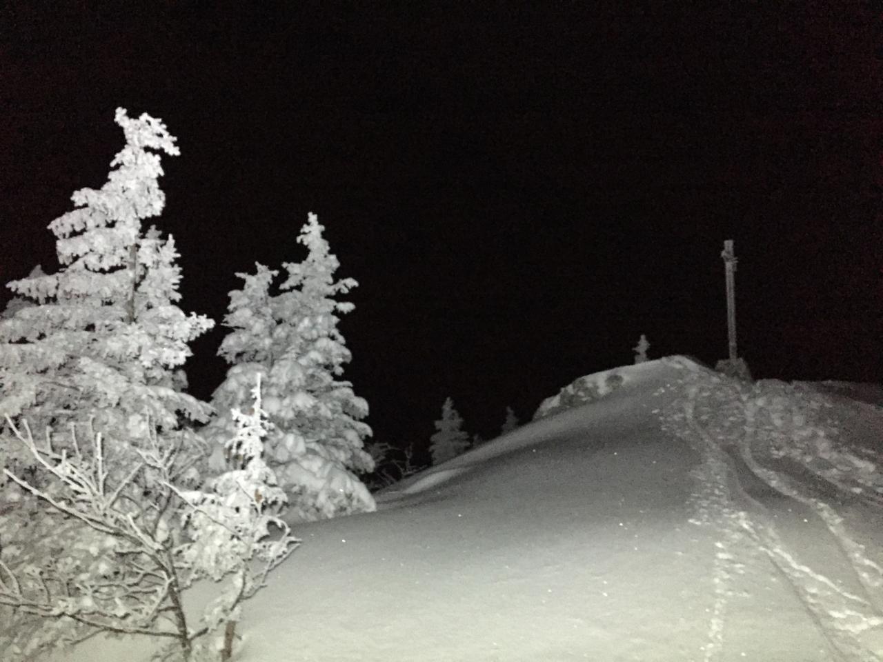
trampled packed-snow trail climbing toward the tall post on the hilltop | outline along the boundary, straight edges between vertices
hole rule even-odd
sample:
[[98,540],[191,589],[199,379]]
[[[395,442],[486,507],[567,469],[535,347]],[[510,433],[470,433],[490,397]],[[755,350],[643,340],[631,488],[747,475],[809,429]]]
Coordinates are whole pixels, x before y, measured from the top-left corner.
[[[743,395],[744,388],[718,377],[709,379],[693,375],[690,382],[683,404],[678,403],[678,406],[683,406],[684,432],[703,455],[702,468],[697,472],[703,486],[699,512],[703,515],[703,523],[717,523],[721,530],[719,559],[732,560],[732,546],[743,542],[741,529],[741,533],[747,534],[787,579],[806,613],[826,637],[834,658],[843,662],[878,661],[879,633],[883,625],[879,587],[883,570],[868,558],[864,545],[851,538],[843,517],[832,506],[811,495],[806,485],[800,485],[784,472],[771,470],[758,462],[752,449],[757,446],[758,405],[750,396]],[[714,418],[713,404],[702,403],[703,398],[699,395],[704,390],[706,400],[713,400],[713,396],[708,396],[714,389],[728,391],[726,401],[730,407],[741,405],[738,410],[743,415],[743,429],[730,425],[729,434],[713,436],[706,425],[698,422],[696,410],[703,404],[706,408],[704,418]],[[726,418],[728,424],[739,420],[732,411]],[[782,434],[787,433],[788,430],[782,431]],[[805,457],[802,459],[811,469],[813,463]],[[849,499],[850,495],[844,496]],[[792,501],[783,506],[781,497]],[[775,512],[771,512],[767,505],[774,507]],[[807,524],[796,539],[796,545],[783,541],[779,533],[778,519],[784,511],[792,515],[796,511]],[[807,530],[813,531],[811,537],[807,536]],[[805,552],[808,539],[812,541],[811,554]],[[824,568],[826,574],[799,559],[793,551],[798,545],[804,558],[813,557],[817,561],[815,567]],[[832,580],[828,575],[836,579]],[[723,563],[716,566],[717,599],[709,627],[707,662],[720,659],[723,650],[722,614],[726,611],[730,594],[727,584],[732,578]]]

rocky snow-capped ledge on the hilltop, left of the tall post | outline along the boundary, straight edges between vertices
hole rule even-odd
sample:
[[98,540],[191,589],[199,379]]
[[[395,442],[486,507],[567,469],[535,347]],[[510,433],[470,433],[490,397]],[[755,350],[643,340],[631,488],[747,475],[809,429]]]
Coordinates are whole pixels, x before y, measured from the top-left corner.
[[660,365],[672,365],[680,368],[690,368],[691,370],[702,369],[691,358],[674,356],[659,358],[655,361],[645,361],[635,365],[623,365],[602,372],[593,372],[570,382],[557,395],[548,397],[543,402],[540,402],[540,407],[533,415],[533,420],[540,420],[540,418],[546,418],[560,411],[570,410],[588,402],[600,400],[618,388],[623,387],[623,385],[634,380],[641,380],[648,374],[655,372],[659,369]]

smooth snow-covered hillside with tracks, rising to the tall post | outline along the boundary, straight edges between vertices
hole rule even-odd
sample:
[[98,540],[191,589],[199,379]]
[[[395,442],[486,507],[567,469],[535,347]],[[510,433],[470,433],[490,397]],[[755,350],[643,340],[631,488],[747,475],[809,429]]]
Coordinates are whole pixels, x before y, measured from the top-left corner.
[[[297,525],[236,659],[881,659],[875,393],[746,395],[683,357],[592,379],[593,402],[392,486],[376,513]],[[147,658],[132,639],[64,656]]]

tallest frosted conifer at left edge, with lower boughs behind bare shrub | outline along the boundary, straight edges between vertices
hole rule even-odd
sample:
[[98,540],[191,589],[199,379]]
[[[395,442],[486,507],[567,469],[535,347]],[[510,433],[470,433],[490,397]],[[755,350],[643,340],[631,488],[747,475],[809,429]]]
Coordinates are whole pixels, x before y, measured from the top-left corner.
[[[195,481],[193,464],[203,447],[181,423],[208,418],[210,411],[183,392],[180,368],[188,343],[212,322],[177,306],[175,244],[142,228],[162,211],[158,153],[177,154],[175,139],[147,115],[133,119],[117,109],[116,121],[126,144],[111,162],[109,181],[100,190],[75,192],[77,208],[49,225],[60,269],[11,282],[22,301],[0,317],[0,417],[26,418],[41,433],[54,429],[58,450],[52,455],[19,443],[11,423],[4,424],[0,465],[50,496],[58,485],[34,448],[49,453],[43,455],[49,464],[64,466],[59,458],[66,453],[86,466],[96,461],[95,448],[77,448],[78,435],[102,435],[105,446],[112,445],[115,461],[102,465],[102,479],[132,485],[133,493],[155,493],[149,472],[129,475],[151,448],[188,448],[192,455],[177,480]],[[77,515],[49,508],[9,473],[0,479],[0,503],[9,506],[0,508],[0,560],[11,571],[42,557],[80,568],[77,554],[97,549],[92,529],[75,526],[82,522]]]

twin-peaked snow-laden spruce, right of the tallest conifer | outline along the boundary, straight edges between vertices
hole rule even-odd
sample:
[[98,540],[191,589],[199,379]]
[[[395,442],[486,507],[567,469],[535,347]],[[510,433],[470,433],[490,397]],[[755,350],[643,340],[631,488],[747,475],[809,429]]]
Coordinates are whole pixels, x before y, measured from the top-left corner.
[[206,429],[209,438],[223,440],[231,425],[223,412],[244,402],[254,375],[262,375],[273,424],[267,461],[288,496],[289,512],[307,520],[374,509],[374,498],[356,477],[374,470],[364,448],[371,434],[362,422],[368,405],[349,381],[338,379],[351,359],[338,314],[353,305],[335,297],[357,283],[335,280],[339,262],[322,230],[316,214],[309,214],[298,236],[306,260],[283,265],[287,277],[278,293],[270,291],[278,272],[268,267],[238,274],[245,284],[230,292],[224,324],[231,330],[218,352],[232,366],[215,390],[221,413]]

